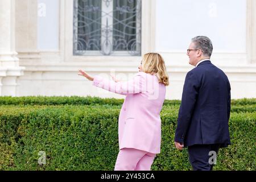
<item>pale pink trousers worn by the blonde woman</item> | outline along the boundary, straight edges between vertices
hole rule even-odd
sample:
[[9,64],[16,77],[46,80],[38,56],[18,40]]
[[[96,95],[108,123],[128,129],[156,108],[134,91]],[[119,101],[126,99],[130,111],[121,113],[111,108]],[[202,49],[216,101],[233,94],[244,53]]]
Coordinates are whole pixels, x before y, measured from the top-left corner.
[[114,170],[150,171],[155,155],[135,148],[122,148],[118,153]]

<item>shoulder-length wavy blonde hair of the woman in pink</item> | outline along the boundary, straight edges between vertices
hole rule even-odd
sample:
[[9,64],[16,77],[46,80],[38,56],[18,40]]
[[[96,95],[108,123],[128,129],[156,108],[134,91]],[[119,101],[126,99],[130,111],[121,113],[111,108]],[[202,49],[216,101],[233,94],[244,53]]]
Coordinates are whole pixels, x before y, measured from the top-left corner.
[[142,60],[142,71],[158,77],[158,81],[169,85],[169,77],[166,71],[163,57],[159,53],[146,53]]

